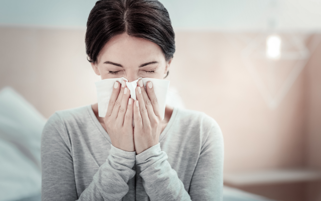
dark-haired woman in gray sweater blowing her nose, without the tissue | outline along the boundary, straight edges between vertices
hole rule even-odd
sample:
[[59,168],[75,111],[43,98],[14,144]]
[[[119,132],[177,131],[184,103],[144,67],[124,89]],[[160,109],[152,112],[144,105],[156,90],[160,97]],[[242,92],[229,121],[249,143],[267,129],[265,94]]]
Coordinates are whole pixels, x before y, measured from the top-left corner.
[[[129,82],[163,79],[175,52],[169,14],[156,0],[98,1],[85,43],[97,75]],[[137,82],[136,98],[115,82],[104,118],[97,104],[49,118],[42,200],[222,200],[223,138],[215,120],[168,106],[162,120],[151,82],[146,89]]]

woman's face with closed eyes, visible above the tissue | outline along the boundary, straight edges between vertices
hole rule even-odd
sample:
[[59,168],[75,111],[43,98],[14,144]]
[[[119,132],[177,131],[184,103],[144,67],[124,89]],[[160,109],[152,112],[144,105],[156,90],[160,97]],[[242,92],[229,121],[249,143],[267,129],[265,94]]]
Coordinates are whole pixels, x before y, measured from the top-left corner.
[[163,79],[171,62],[155,43],[124,33],[109,40],[91,66],[101,79],[124,77],[131,82],[139,77]]

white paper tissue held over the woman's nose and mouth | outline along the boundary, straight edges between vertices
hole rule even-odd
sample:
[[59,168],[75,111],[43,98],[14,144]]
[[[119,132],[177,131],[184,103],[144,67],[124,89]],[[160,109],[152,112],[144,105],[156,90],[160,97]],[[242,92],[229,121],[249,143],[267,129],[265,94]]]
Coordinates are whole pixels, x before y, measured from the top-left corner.
[[[98,116],[99,117],[106,116],[109,99],[110,99],[115,81],[119,81],[119,83],[121,84],[121,82],[124,80],[126,82],[126,86],[130,90],[131,98],[136,100],[135,88],[137,86],[138,79],[132,82],[128,82],[126,78],[120,77],[120,78],[102,79],[100,81],[96,81],[95,85],[97,89]],[[146,89],[146,83],[148,81],[151,81],[152,87],[154,87],[155,95],[158,101],[159,113],[161,114],[161,117],[163,120],[165,117],[166,96],[167,96],[167,91],[169,89],[170,81],[164,80],[164,79],[144,77],[142,78],[142,82],[144,84],[145,89]]]

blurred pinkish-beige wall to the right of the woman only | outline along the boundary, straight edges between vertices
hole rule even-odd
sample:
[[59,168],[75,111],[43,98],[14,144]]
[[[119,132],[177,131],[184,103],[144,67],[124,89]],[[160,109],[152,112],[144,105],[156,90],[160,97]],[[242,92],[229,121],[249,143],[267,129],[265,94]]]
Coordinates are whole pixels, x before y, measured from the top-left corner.
[[242,61],[246,44],[234,42],[237,37],[177,33],[171,84],[188,108],[207,113],[221,126],[225,171],[303,166],[304,75],[276,109],[269,109]]

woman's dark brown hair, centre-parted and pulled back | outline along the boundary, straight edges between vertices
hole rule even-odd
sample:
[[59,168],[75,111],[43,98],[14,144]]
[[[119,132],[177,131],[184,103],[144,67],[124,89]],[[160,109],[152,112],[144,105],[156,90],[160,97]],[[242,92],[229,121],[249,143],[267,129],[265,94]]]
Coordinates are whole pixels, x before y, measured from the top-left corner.
[[97,62],[104,45],[114,36],[127,33],[162,48],[165,59],[175,53],[175,33],[168,11],[157,0],[100,0],[91,10],[86,30],[89,62]]

